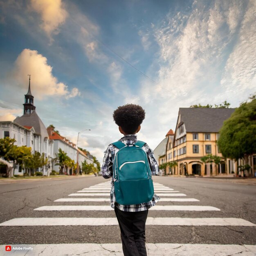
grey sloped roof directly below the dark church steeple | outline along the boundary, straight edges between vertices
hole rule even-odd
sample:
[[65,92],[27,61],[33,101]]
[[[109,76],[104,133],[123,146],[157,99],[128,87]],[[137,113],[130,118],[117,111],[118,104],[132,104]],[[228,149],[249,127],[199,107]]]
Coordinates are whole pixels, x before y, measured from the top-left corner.
[[17,117],[13,122],[20,124],[21,126],[33,126],[35,132],[40,134],[42,139],[48,137],[45,125],[40,117],[38,117],[36,110],[34,110],[31,114],[25,114],[21,117]]

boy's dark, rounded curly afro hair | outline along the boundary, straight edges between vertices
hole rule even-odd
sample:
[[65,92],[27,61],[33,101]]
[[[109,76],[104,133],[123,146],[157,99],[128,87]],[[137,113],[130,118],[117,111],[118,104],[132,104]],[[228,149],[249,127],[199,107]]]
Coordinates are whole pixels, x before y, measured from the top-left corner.
[[113,118],[124,132],[134,134],[145,118],[145,110],[139,105],[126,104],[114,111]]

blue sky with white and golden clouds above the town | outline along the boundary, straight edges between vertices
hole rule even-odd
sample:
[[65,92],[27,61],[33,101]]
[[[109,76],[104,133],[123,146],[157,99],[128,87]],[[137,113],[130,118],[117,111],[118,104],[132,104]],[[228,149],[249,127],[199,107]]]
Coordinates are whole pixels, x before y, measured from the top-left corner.
[[[152,149],[179,108],[256,92],[255,0],[0,0],[0,121],[23,115],[31,74],[47,127],[102,162],[113,111],[141,105]],[[90,129],[90,131],[89,131]]]

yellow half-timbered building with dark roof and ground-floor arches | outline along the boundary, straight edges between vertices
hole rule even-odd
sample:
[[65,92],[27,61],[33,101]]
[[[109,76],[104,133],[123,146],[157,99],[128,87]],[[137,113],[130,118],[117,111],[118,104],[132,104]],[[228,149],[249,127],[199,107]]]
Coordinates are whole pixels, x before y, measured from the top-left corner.
[[[218,132],[234,108],[180,108],[175,133],[171,130],[166,143],[165,162],[177,162],[166,167],[167,175],[218,175],[235,173],[239,163],[224,159],[218,150]],[[202,162],[206,155],[222,158],[220,164]],[[164,156],[163,156],[164,157]],[[162,157],[161,157],[162,161]],[[160,163],[159,163],[160,164]]]

